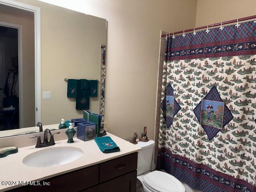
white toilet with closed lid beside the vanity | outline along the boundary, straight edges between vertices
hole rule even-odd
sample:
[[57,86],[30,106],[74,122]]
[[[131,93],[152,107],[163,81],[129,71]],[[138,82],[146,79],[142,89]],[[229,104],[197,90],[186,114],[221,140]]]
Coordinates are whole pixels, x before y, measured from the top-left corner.
[[138,152],[137,178],[142,183],[144,192],[186,192],[182,182],[174,176],[162,171],[151,172],[154,169],[152,159],[155,142],[137,142],[141,148]]

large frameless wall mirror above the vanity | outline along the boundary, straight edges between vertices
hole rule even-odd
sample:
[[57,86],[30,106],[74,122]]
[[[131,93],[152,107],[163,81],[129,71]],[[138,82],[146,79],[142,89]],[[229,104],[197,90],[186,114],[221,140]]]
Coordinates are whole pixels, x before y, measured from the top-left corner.
[[[38,132],[39,121],[82,118],[84,109],[104,115],[105,45],[105,19],[37,0],[0,0],[0,137]],[[96,95],[88,96],[90,84]]]

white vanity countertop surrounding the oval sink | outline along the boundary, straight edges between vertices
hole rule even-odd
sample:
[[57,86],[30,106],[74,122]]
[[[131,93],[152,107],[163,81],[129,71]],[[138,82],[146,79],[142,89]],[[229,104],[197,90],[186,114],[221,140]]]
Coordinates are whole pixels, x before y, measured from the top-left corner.
[[[138,152],[141,149],[137,145],[134,145],[126,140],[114,136],[113,134],[108,133],[107,136],[110,136],[112,140],[120,147],[119,152],[102,153],[94,140],[84,142],[77,138],[74,138],[74,143],[67,143],[66,139],[56,141],[56,144],[54,146],[48,146],[44,148],[35,148],[36,143],[33,146],[18,148],[18,153],[8,155],[4,158],[0,158],[0,192],[20,187],[3,186],[1,184],[2,181],[45,180],[47,178],[89,167],[114,158],[118,158],[126,154]],[[26,166],[22,163],[23,158],[26,157],[28,154],[39,150],[44,150],[46,148],[54,148],[60,146],[74,146],[82,149],[84,151],[84,154],[73,162],[53,167],[36,168]]]

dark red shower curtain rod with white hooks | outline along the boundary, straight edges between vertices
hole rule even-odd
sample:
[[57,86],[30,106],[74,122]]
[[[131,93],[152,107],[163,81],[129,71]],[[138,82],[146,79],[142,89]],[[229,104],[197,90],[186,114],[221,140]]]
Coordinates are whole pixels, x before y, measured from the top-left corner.
[[235,22],[239,22],[239,21],[245,21],[245,20],[250,20],[250,19],[255,19],[256,15],[253,16],[249,16],[249,17],[243,17],[243,18],[238,18],[238,19],[234,19],[234,20],[230,20],[230,21],[224,21],[224,22],[220,22],[220,23],[215,23],[215,24],[211,24],[211,25],[206,25],[206,26],[202,26],[202,27],[195,27],[192,29],[186,29],[184,31],[177,31],[174,33],[166,33],[163,34],[162,37],[165,37],[166,35],[171,36],[172,34],[179,34],[179,33],[185,33],[185,32],[190,32],[190,31],[194,31],[194,30],[199,30],[199,29],[204,29],[204,28],[209,28],[209,27],[216,27],[216,26],[221,26],[221,25],[226,25],[226,24],[230,24],[230,23],[235,23]]

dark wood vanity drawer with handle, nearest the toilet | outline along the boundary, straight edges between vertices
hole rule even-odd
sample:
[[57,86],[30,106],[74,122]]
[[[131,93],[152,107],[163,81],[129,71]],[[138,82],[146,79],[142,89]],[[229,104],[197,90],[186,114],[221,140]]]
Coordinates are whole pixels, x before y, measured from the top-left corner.
[[138,153],[132,153],[100,164],[99,182],[105,182],[137,169]]

